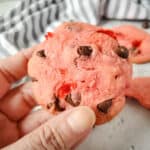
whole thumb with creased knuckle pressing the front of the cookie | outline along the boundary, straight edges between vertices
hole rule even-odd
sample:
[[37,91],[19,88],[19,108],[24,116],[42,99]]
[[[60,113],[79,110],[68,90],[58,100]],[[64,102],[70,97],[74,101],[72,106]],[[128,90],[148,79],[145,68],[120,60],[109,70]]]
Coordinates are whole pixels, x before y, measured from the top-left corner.
[[88,107],[81,106],[48,120],[5,150],[71,149],[86,137],[94,123],[94,112]]

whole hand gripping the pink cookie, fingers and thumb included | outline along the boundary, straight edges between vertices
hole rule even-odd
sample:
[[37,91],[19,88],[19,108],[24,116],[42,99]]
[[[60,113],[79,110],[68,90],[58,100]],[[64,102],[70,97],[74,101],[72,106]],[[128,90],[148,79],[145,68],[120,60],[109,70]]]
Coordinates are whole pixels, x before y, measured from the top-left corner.
[[27,74],[33,49],[0,60],[0,147],[4,150],[61,150],[76,147],[88,135],[95,115],[77,107],[53,117],[36,106],[30,82],[11,88]]

